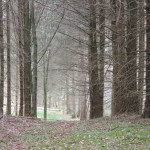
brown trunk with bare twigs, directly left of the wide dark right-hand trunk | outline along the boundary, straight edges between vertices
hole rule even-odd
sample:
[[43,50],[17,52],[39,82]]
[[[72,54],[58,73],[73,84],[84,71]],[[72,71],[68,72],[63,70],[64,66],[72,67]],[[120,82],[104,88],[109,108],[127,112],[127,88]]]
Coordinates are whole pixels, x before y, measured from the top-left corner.
[[124,0],[118,1],[118,13],[120,12],[120,16],[118,19],[118,27],[117,27],[117,36],[118,36],[118,111],[117,114],[124,114],[127,108],[127,89],[126,89],[126,32],[125,32],[125,6]]

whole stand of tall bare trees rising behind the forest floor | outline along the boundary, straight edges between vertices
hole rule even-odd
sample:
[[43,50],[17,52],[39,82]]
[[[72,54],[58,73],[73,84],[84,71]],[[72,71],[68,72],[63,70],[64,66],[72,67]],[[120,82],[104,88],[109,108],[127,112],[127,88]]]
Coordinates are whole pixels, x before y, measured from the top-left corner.
[[148,0],[1,0],[0,114],[7,87],[7,115],[15,102],[20,116],[37,117],[44,105],[46,119],[61,97],[81,120],[103,117],[110,105],[112,116],[149,118],[149,26]]

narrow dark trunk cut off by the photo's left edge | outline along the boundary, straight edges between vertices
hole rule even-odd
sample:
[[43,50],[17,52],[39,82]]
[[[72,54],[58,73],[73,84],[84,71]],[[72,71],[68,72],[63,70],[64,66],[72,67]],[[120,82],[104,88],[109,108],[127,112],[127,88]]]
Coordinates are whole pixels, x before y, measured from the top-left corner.
[[0,116],[4,104],[4,47],[3,47],[3,1],[0,0]]

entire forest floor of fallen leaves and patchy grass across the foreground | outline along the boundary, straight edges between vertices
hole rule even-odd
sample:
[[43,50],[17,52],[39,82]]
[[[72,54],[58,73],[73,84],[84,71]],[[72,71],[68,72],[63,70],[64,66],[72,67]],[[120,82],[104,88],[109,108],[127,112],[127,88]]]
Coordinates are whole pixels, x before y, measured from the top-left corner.
[[4,117],[0,150],[149,150],[150,119],[139,116],[90,121],[54,121]]

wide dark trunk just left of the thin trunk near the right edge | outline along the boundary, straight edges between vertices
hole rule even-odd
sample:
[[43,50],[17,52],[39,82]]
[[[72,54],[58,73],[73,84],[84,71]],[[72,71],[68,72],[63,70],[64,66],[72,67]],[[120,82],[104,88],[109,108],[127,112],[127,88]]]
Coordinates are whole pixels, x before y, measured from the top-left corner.
[[139,113],[137,97],[137,2],[127,0],[127,112]]

